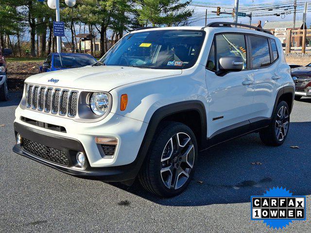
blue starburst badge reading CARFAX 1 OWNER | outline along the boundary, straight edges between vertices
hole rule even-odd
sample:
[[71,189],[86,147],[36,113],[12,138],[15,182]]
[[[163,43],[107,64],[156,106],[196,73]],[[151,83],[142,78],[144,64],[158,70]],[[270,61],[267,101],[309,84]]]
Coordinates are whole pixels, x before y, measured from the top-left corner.
[[306,220],[306,196],[274,187],[263,196],[251,197],[251,220],[263,220],[271,228],[283,228],[294,220]]

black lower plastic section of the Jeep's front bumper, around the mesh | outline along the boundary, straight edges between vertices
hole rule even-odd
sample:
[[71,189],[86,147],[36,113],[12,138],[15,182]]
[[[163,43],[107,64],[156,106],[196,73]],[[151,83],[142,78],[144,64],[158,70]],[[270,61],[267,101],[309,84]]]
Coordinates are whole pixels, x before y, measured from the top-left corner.
[[107,166],[107,167],[91,167],[86,159],[85,168],[76,166],[75,154],[77,151],[85,153],[84,147],[76,139],[60,136],[53,133],[40,131],[25,125],[21,125],[17,122],[14,123],[15,134],[20,133],[25,135],[28,140],[45,145],[47,147],[64,151],[68,157],[69,165],[62,166],[60,164],[53,163],[41,157],[35,156],[25,150],[22,145],[17,144],[14,146],[13,151],[17,154],[23,155],[30,159],[33,159],[41,164],[50,166],[54,169],[62,171],[72,176],[76,176],[84,179],[101,180],[107,182],[122,182],[135,179],[141,166],[141,159],[139,156],[136,160],[128,165],[123,166]]

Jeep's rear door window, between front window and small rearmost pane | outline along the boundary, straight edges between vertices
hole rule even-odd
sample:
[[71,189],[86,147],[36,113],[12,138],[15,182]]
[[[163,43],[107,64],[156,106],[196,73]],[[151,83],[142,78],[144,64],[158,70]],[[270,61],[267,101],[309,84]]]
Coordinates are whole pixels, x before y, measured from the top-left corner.
[[252,46],[253,67],[266,67],[271,64],[268,39],[265,37],[249,36]]

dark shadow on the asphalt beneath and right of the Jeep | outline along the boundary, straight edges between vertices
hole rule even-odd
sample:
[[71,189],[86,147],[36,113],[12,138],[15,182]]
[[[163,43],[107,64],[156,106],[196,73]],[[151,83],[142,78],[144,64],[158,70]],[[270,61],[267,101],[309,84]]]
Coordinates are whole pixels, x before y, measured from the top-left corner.
[[[311,194],[311,122],[292,122],[280,147],[261,143],[253,133],[199,153],[196,172],[184,193],[170,199],[144,191],[136,181],[131,187],[115,186],[144,199],[168,206],[202,206],[250,202],[252,195],[282,186],[293,195]],[[291,148],[298,146],[299,148]]]

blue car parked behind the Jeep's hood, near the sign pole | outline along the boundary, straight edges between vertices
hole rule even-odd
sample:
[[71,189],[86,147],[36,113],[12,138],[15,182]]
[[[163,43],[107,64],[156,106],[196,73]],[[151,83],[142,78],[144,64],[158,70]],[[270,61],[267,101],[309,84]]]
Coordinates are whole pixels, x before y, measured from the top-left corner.
[[85,53],[51,53],[39,67],[40,73],[93,65],[97,60]]

